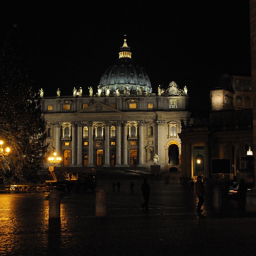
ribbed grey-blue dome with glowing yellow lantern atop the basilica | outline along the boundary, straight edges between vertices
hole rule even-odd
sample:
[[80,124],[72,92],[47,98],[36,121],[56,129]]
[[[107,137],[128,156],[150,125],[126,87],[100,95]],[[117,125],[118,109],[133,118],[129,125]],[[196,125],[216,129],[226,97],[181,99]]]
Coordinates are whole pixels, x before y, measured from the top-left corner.
[[106,86],[109,86],[110,94],[114,94],[113,92],[116,91],[117,87],[120,88],[120,94],[123,94],[123,88],[126,87],[130,95],[135,95],[140,87],[142,87],[143,92],[151,92],[152,90],[148,74],[132,60],[126,39],[120,48],[119,59],[106,70],[99,84],[102,86],[102,91],[105,91]]

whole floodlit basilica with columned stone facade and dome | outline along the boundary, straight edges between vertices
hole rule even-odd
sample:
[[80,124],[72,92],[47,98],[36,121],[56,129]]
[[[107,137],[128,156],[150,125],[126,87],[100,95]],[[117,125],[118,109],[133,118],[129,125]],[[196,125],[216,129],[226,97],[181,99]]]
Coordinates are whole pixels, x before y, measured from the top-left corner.
[[148,74],[131,58],[125,39],[119,59],[103,73],[97,91],[93,88],[42,96],[46,159],[56,152],[64,167],[150,167],[157,154],[161,170],[181,171],[178,133],[190,117],[186,86],[171,81],[152,93]]

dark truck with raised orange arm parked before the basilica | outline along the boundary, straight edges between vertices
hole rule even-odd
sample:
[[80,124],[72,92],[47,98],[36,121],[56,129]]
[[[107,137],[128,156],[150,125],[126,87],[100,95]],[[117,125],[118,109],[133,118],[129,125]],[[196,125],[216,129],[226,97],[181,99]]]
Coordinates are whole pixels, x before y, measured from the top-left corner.
[[96,170],[85,167],[49,166],[49,180],[46,186],[59,191],[95,191],[97,188]]

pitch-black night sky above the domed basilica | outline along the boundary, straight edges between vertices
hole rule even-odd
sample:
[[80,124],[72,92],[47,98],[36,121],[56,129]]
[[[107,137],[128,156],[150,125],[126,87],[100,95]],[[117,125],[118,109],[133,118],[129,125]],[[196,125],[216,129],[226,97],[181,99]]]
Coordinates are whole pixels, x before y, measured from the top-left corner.
[[132,58],[158,84],[185,85],[190,110],[203,114],[219,76],[250,76],[249,0],[0,1],[1,45],[17,24],[33,81],[44,96],[95,89],[118,59],[124,34]]

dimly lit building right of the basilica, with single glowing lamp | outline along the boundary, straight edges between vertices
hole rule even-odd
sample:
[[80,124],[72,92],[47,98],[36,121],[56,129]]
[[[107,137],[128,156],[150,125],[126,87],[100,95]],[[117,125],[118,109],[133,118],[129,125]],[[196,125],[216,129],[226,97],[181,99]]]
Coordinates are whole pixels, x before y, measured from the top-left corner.
[[191,119],[179,133],[183,178],[244,178],[253,184],[253,155],[247,157],[249,148],[253,152],[252,102],[250,77],[220,77],[210,90],[209,118]]

